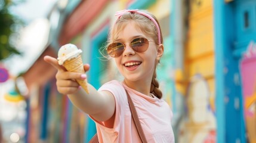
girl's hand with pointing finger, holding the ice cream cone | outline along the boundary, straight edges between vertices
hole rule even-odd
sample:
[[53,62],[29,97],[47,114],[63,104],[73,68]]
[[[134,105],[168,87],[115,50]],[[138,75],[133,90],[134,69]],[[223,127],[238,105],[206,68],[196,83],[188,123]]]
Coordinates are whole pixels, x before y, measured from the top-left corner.
[[[56,58],[47,55],[44,57],[44,60],[58,70],[55,77],[57,80],[57,90],[61,94],[75,94],[75,92],[81,88],[78,82],[76,82],[76,79],[84,80],[87,78],[86,74],[67,71],[63,66],[58,64]],[[85,71],[88,71],[90,69],[89,64],[85,64],[84,69]]]

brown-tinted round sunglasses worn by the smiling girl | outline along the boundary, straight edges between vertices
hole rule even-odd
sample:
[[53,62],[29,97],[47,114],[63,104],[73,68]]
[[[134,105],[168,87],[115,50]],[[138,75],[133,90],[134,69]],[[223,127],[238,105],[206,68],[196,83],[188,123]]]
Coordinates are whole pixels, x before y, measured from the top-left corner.
[[[132,41],[129,43],[129,46],[135,51],[135,52],[145,52],[147,51],[147,48],[149,48],[149,41],[147,38],[135,38],[132,39]],[[113,42],[110,43],[109,46],[107,46],[107,53],[113,57],[119,57],[122,55],[122,53],[125,51],[125,44],[121,42]]]

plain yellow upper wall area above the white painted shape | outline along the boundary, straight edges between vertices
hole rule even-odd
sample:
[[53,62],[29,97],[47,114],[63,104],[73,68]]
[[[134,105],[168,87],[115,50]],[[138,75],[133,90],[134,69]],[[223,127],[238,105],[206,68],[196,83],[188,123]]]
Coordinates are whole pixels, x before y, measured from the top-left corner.
[[[201,3],[199,3],[201,2]],[[187,80],[196,73],[206,78],[214,92],[214,23],[212,0],[191,1],[185,47]],[[199,5],[200,4],[200,5]]]

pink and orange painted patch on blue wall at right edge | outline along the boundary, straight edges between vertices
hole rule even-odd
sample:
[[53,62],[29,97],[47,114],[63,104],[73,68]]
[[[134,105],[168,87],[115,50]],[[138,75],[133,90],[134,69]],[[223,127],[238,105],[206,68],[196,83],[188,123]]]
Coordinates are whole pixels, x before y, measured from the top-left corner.
[[248,141],[256,142],[256,44],[251,42],[240,63],[243,108]]

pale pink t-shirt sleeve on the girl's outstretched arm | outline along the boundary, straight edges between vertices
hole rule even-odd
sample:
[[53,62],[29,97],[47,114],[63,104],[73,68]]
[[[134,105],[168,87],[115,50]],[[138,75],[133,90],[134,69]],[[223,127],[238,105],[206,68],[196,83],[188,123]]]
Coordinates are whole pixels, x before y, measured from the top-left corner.
[[[122,105],[124,105],[122,103],[125,102],[124,86],[122,86],[122,84],[120,82],[118,82],[117,80],[112,80],[110,82],[105,83],[103,86],[101,86],[101,88],[98,89],[98,91],[109,91],[113,94],[113,96],[115,98],[115,104],[116,104],[115,105],[115,122],[113,125],[113,131],[118,131],[120,128],[120,121],[121,121],[122,117],[124,116],[121,112]],[[103,122],[98,122],[97,120],[93,119],[92,117],[91,117],[91,119],[95,121],[95,123],[98,125],[98,127],[105,128],[105,129],[107,128],[104,126]]]

